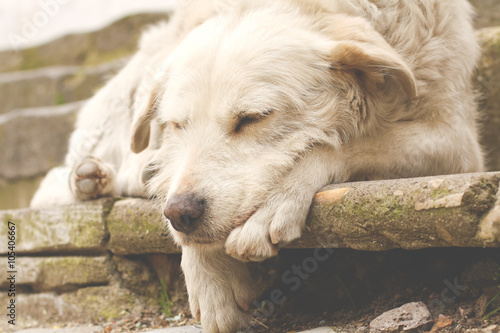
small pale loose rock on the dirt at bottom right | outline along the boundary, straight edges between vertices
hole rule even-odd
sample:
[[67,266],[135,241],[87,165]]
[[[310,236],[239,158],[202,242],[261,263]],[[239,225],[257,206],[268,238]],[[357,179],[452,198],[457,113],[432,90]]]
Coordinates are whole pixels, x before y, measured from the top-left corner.
[[387,311],[370,323],[370,332],[409,331],[430,324],[431,313],[422,302],[407,303]]

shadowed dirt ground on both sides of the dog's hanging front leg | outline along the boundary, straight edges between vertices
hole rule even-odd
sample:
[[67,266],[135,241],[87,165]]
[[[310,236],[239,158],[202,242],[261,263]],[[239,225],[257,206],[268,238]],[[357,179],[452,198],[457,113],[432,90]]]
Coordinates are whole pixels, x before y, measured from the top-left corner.
[[[488,304],[500,292],[500,250],[322,251],[282,251],[279,258],[252,265],[265,291],[254,303],[254,319],[246,332],[295,332],[321,326],[369,332],[375,317],[415,301],[425,303],[436,319],[432,332],[479,332],[474,329],[500,324],[500,311],[488,315],[500,307],[500,297]],[[315,264],[311,258],[324,261]],[[180,320],[170,322],[165,315],[150,312],[107,323],[104,331],[196,324],[186,305],[178,304],[173,311],[181,313]],[[432,324],[420,331],[431,329]]]

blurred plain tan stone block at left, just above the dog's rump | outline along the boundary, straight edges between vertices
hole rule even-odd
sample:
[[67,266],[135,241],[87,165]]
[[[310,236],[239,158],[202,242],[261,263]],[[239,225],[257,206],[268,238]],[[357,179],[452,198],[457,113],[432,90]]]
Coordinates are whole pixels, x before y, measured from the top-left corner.
[[62,164],[77,111],[83,103],[0,115],[0,178],[36,177]]

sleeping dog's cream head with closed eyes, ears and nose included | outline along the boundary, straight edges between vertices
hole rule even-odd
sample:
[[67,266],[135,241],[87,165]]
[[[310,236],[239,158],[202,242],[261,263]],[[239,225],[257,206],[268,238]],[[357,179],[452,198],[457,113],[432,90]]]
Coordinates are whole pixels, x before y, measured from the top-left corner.
[[311,150],[339,149],[416,95],[368,23],[296,8],[212,18],[167,63],[136,114],[132,150],[147,147],[151,119],[163,125],[149,187],[184,245],[224,241]]

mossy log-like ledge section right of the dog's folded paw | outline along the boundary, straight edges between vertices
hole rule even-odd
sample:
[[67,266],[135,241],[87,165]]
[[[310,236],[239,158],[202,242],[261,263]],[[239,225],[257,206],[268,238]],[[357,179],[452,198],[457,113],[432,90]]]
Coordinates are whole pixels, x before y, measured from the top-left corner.
[[288,248],[500,246],[500,172],[331,185]]

